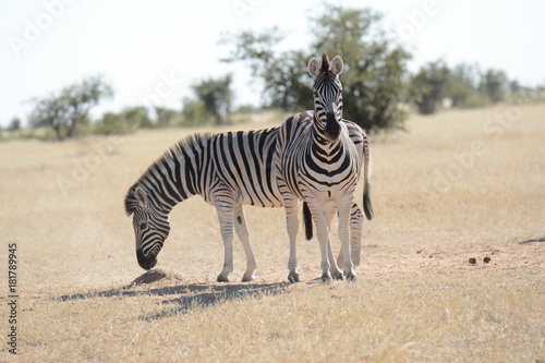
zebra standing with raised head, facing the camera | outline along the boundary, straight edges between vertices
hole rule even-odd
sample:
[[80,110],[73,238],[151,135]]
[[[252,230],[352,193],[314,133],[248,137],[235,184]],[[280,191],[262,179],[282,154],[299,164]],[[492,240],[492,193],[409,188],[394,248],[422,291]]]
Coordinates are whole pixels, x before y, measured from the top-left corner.
[[311,58],[307,70],[314,78],[314,112],[298,113],[289,118],[279,130],[275,165],[277,182],[286,208],[287,228],[290,238],[288,263],[291,282],[300,280],[296,261],[296,233],[299,201],[307,204],[307,213],[316,223],[316,235],[322,255],[322,280],[344,275],[332,258],[329,242],[329,226],[335,211],[339,215],[339,239],[346,277],[356,278],[349,244],[349,219],[353,194],[363,164],[363,207],[368,220],[373,218],[370,173],[371,156],[368,141],[360,126],[342,119],[342,85],[339,74],[343,62],[336,56],[329,63],[322,56],[322,66]]

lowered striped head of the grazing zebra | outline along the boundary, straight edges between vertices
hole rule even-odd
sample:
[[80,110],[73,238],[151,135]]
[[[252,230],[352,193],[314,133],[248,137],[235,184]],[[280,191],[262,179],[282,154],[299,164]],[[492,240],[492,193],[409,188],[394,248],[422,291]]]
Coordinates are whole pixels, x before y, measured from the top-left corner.
[[136,258],[144,269],[157,264],[157,255],[169,235],[168,213],[158,210],[141,185],[133,185],[125,197],[126,214],[133,215]]

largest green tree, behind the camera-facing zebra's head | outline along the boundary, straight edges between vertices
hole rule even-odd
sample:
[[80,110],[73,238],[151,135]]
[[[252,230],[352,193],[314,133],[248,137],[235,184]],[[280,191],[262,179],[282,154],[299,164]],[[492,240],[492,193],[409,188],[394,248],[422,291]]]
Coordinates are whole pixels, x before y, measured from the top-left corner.
[[405,114],[398,105],[411,55],[379,28],[379,13],[326,7],[326,14],[308,20],[308,29],[316,29],[308,47],[276,52],[282,39],[277,28],[263,34],[242,32],[223,40],[234,45],[223,60],[250,63],[252,75],[263,81],[266,106],[298,111],[313,107],[308,59],[322,52],[340,55],[346,64],[341,76],[344,118],[366,130],[401,126]]

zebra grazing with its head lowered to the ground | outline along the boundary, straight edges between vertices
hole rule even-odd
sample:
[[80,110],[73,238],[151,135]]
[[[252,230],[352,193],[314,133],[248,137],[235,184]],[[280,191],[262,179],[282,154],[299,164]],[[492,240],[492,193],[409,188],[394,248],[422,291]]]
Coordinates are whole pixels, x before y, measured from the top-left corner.
[[[243,205],[282,206],[274,167],[278,131],[277,126],[194,134],[157,159],[129,189],[124,202],[128,216],[133,216],[140,266],[150,269],[157,264],[157,255],[169,235],[171,209],[193,195],[201,195],[216,207],[220,223],[225,258],[217,281],[228,282],[233,270],[233,227],[246,255],[242,281],[252,281],[257,263]],[[352,214],[352,227],[361,230],[363,218],[356,205]]]

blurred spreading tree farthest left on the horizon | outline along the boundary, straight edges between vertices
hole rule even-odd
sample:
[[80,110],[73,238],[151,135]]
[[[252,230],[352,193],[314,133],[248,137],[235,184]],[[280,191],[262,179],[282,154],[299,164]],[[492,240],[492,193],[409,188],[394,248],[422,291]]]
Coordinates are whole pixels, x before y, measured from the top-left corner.
[[36,104],[29,121],[34,126],[48,125],[55,130],[57,138],[73,137],[77,125],[88,122],[88,114],[93,107],[102,98],[113,95],[112,87],[95,76],[63,88],[58,96],[35,99]]

